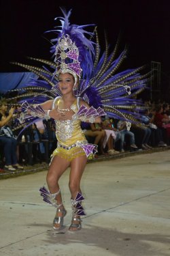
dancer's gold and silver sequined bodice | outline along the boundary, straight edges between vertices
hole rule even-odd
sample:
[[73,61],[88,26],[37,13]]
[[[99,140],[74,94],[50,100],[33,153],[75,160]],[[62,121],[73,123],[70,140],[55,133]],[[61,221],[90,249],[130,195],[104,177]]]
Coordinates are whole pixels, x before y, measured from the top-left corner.
[[[54,102],[54,107],[58,106],[60,98],[57,98]],[[71,110],[74,113],[78,112],[78,99],[73,102],[71,105]],[[65,120],[65,121],[56,121],[56,139],[58,143],[62,145],[72,145],[77,141],[86,141],[82,129],[80,127],[80,120]]]

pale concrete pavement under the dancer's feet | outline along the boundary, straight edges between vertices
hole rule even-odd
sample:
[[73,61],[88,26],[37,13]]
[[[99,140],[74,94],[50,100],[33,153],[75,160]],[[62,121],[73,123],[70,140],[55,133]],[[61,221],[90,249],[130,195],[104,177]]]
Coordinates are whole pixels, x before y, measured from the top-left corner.
[[68,231],[69,170],[60,182],[67,208],[61,231],[52,229],[55,209],[39,197],[46,173],[47,166],[0,180],[0,255],[170,255],[169,149],[89,162],[81,184],[87,215],[76,232]]

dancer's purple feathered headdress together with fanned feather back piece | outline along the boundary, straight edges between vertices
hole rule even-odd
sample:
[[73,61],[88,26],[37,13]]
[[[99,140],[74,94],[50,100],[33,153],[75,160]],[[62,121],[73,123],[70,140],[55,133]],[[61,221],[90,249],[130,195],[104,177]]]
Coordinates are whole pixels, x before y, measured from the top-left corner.
[[75,78],[80,78],[75,96],[80,96],[95,108],[101,106],[109,117],[140,124],[139,112],[144,106],[135,98],[148,80],[147,74],[140,74],[143,67],[118,72],[126,58],[126,48],[117,57],[118,42],[114,51],[109,53],[106,40],[105,51],[101,54],[97,29],[92,33],[85,28],[93,25],[70,25],[71,11],[62,12],[63,17],[59,18],[61,26],[52,30],[57,35],[51,40],[50,52],[54,60],[30,58],[43,63],[42,68],[15,63],[39,76],[37,81],[18,91],[18,100],[22,99],[19,102],[41,103],[61,96],[57,87],[58,72],[70,72]]

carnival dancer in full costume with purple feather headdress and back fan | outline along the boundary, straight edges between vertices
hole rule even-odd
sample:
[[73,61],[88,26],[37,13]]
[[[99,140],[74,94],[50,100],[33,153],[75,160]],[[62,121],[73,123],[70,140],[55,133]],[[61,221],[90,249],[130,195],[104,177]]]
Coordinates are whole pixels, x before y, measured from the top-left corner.
[[73,216],[69,230],[77,231],[81,229],[80,216],[85,214],[80,181],[87,157],[97,152],[97,147],[86,141],[80,124],[100,123],[101,116],[107,114],[125,120],[127,128],[131,122],[140,125],[139,111],[143,106],[134,98],[143,90],[147,79],[139,74],[142,68],[115,74],[126,57],[126,50],[115,59],[118,45],[110,55],[106,46],[100,57],[97,31],[86,31],[88,25],[70,25],[71,11],[62,12],[61,27],[54,30],[58,36],[51,40],[54,61],[30,58],[48,68],[14,64],[39,76],[38,80],[19,90],[18,100],[24,98],[18,101],[22,104],[22,114],[18,118],[22,126],[27,127],[39,118],[52,118],[56,124],[58,143],[47,174],[49,190],[43,186],[39,191],[44,201],[56,207],[53,227],[61,229],[67,212],[58,180],[67,167],[71,167],[69,189]]

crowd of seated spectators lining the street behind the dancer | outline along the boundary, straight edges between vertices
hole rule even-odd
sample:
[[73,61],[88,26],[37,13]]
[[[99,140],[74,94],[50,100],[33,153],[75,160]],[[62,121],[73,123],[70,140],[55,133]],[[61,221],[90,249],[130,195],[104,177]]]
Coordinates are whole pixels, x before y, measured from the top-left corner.
[[[83,128],[89,143],[98,145],[98,153],[114,155],[126,151],[150,150],[152,147],[170,145],[170,109],[169,104],[145,102],[146,110],[141,113],[141,126],[132,124],[128,129],[126,122],[105,116],[101,124],[89,124]],[[23,169],[29,155],[28,143],[34,142],[31,151],[33,162],[44,161],[45,140],[48,141],[48,156],[56,147],[54,123],[41,120],[20,134],[10,129],[14,107],[8,108],[0,102],[0,163],[8,171]],[[16,135],[16,136],[15,136]]]

